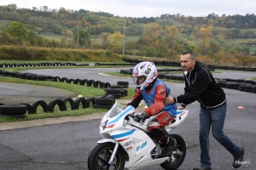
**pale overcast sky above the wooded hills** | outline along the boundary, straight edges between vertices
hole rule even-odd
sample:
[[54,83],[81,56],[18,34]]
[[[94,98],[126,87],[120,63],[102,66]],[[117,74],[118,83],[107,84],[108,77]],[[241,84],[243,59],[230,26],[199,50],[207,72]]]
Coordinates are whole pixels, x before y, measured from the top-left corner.
[[160,14],[177,13],[185,16],[256,14],[256,0],[0,0],[0,5],[11,3],[15,3],[18,8],[82,8],[126,17],[157,17]]

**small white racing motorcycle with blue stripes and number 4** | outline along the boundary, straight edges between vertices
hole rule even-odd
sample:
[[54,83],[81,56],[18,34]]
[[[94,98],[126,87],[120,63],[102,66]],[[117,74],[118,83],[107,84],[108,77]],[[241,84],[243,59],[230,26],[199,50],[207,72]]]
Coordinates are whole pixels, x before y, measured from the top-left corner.
[[[139,169],[160,165],[164,169],[177,169],[186,156],[186,144],[177,133],[171,133],[176,139],[176,148],[170,156],[162,156],[161,144],[148,133],[148,122],[151,116],[143,122],[135,122],[134,107],[115,103],[102,118],[100,133],[104,139],[97,142],[88,156],[90,170],[122,170]],[[177,127],[188,115],[189,111],[177,111],[176,119],[166,126],[169,132]]]

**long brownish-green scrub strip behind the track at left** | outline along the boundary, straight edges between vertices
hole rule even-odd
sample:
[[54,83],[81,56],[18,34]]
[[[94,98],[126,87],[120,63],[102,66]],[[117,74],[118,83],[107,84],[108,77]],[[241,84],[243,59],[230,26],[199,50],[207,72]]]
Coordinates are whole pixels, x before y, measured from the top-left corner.
[[121,58],[105,50],[0,46],[0,59],[120,62]]

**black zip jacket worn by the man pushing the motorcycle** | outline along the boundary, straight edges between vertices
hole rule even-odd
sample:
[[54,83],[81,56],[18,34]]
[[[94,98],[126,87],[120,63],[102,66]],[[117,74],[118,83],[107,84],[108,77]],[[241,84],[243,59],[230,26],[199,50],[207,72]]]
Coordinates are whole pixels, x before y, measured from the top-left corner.
[[201,106],[207,108],[217,108],[224,105],[227,101],[224,90],[212,77],[212,73],[199,61],[195,62],[195,68],[190,73],[184,72],[185,94],[178,96],[176,103],[184,105],[191,104],[197,100]]

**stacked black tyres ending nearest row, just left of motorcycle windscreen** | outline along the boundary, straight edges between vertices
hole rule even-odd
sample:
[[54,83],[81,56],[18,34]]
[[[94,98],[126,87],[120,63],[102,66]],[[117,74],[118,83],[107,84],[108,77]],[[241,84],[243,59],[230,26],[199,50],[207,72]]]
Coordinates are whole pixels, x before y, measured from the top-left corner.
[[93,107],[101,108],[101,109],[111,109],[114,103],[115,103],[115,99],[113,95],[108,95],[106,97],[96,98],[95,104],[93,105]]

